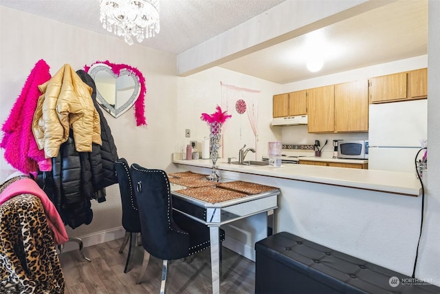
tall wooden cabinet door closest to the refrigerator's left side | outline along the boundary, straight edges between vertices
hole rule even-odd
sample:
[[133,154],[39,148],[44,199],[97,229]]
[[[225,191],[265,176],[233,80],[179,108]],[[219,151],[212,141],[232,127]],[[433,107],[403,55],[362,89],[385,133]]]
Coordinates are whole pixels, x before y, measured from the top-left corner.
[[368,132],[367,80],[335,85],[335,129],[336,132]]

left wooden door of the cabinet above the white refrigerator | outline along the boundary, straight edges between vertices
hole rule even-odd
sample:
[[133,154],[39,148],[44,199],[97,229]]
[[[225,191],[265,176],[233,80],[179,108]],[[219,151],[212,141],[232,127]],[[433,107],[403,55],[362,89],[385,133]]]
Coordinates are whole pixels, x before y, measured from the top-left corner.
[[406,72],[370,78],[370,103],[406,99]]

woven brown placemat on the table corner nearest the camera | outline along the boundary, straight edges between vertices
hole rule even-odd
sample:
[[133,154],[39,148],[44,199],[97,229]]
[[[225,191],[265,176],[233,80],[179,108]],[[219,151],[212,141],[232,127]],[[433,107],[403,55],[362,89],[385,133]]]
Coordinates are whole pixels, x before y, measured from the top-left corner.
[[219,203],[219,202],[247,196],[244,193],[239,193],[236,191],[230,191],[226,189],[218,189],[215,187],[199,187],[199,188],[183,189],[183,190],[178,190],[176,192],[210,203]]

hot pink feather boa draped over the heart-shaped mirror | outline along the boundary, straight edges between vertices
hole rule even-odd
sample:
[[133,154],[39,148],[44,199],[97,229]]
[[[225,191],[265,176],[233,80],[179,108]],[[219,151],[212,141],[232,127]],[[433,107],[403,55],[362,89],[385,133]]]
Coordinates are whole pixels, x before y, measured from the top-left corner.
[[145,120],[145,105],[144,105],[144,98],[145,98],[145,93],[146,93],[146,86],[145,86],[145,78],[144,76],[142,76],[142,73],[137,70],[137,68],[135,67],[131,67],[130,65],[126,65],[126,64],[115,64],[115,63],[111,63],[110,61],[96,61],[95,63],[92,63],[90,66],[85,65],[84,70],[85,72],[89,71],[89,68],[92,65],[95,65],[96,63],[104,63],[109,65],[109,67],[111,67],[111,70],[113,70],[113,72],[115,74],[117,74],[119,76],[121,70],[128,70],[129,72],[133,73],[137,79],[140,82],[140,94],[139,94],[139,98],[137,98],[136,102],[135,102],[135,118],[136,118],[136,125],[140,126],[140,125],[146,125],[146,120]]

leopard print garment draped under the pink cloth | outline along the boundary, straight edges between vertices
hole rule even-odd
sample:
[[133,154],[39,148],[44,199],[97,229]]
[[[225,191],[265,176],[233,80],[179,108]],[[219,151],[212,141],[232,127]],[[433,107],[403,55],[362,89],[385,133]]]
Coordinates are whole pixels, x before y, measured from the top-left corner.
[[[0,187],[0,193],[15,180]],[[0,293],[64,293],[65,279],[43,204],[21,194],[0,205]]]

